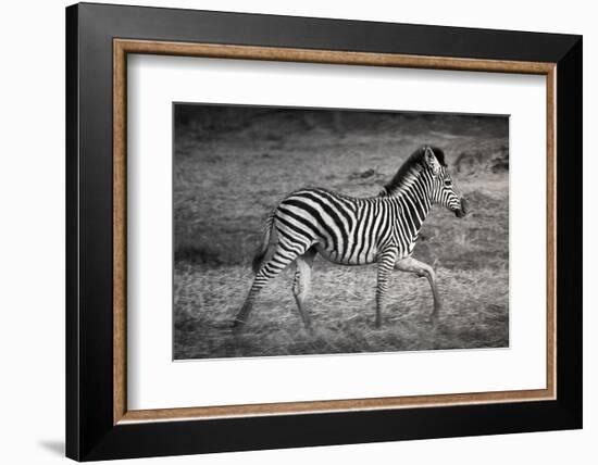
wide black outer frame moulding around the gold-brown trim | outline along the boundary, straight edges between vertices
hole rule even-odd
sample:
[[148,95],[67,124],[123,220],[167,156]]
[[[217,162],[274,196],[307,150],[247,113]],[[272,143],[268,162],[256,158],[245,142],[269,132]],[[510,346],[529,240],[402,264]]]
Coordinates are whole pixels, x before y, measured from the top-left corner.
[[[557,63],[557,400],[114,426],[113,38]],[[581,36],[91,3],[66,9],[66,456],[91,461],[581,427]]]

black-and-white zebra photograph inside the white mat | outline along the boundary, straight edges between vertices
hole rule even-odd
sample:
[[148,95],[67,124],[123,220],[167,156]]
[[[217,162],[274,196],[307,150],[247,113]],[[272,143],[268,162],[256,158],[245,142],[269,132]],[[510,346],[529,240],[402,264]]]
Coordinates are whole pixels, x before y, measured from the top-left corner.
[[509,117],[173,104],[174,360],[509,347]]

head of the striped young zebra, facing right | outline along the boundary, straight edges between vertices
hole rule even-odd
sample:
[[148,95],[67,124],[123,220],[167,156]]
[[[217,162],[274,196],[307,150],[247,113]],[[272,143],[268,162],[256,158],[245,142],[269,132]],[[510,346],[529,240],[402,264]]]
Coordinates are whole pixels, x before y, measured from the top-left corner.
[[423,160],[432,179],[429,192],[432,202],[446,206],[451,212],[454,212],[458,217],[462,218],[468,214],[468,202],[452,181],[445,163],[444,152],[431,146],[425,146],[422,150]]

